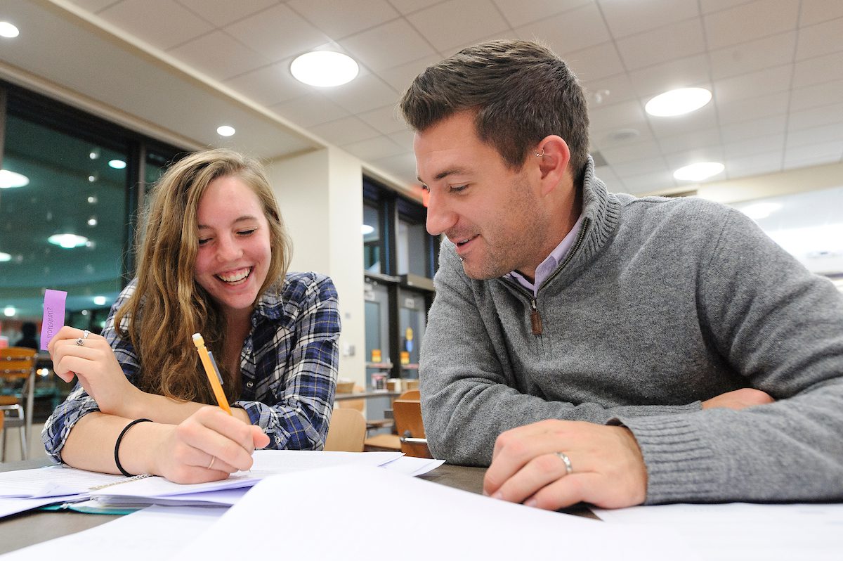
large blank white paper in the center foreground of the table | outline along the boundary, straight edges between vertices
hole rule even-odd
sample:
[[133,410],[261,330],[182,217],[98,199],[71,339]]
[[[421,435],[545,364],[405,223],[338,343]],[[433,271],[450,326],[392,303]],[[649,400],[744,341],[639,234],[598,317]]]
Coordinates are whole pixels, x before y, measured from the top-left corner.
[[[278,509],[279,500],[296,508]],[[695,553],[661,528],[609,525],[530,509],[459,489],[362,466],[330,467],[267,477],[251,488],[206,532],[171,559],[242,557],[243,543],[220,536],[273,536],[285,540],[284,557],[370,559],[361,544],[384,513],[397,526],[378,532],[379,552],[402,559],[529,558],[695,559]],[[319,521],[319,524],[314,524]],[[419,543],[424,547],[416,547]],[[276,557],[277,541],[255,539],[250,557]]]

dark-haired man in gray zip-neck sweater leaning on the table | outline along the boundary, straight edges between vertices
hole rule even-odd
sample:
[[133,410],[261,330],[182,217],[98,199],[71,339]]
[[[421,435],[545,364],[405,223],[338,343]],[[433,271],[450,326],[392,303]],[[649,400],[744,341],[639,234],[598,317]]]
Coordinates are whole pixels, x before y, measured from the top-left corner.
[[558,509],[843,499],[843,298],[743,214],[615,195],[577,78],[524,41],[401,101],[427,230],[433,454]]

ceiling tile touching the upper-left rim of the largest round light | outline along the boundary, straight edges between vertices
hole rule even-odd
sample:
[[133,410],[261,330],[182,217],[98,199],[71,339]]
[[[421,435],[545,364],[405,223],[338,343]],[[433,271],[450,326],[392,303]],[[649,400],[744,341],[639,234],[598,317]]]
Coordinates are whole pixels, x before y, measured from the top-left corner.
[[271,61],[297,56],[330,42],[330,37],[284,4],[240,19],[223,30]]

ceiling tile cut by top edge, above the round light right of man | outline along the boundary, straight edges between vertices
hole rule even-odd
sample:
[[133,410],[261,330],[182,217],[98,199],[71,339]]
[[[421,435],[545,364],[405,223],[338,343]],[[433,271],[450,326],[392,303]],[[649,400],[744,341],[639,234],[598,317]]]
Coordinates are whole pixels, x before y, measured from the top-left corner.
[[599,3],[615,39],[700,15],[697,3],[682,0],[599,0]]

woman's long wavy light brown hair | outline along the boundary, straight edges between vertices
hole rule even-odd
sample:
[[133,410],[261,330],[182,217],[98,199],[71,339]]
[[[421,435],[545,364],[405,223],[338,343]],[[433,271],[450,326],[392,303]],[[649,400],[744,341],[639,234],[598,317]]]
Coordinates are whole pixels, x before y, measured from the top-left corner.
[[[225,367],[226,321],[196,283],[199,200],[219,177],[234,176],[255,192],[270,230],[271,261],[258,298],[282,281],[292,245],[263,167],[227,149],[191,154],[171,165],[153,188],[137,241],[137,287],[115,314],[115,329],[130,337],[141,363],[142,391],[172,399],[214,403],[191,336],[201,333],[217,357],[229,402],[239,397],[239,373]],[[280,287],[280,283],[277,285]]]

